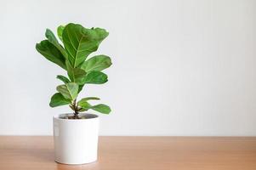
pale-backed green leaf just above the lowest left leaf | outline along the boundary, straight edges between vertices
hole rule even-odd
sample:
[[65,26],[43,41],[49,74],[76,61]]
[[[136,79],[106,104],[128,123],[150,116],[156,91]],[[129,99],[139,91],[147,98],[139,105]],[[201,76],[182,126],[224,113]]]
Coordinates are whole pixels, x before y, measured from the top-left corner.
[[57,87],[57,91],[62,94],[65,99],[74,100],[77,98],[78,85],[76,82],[68,82]]

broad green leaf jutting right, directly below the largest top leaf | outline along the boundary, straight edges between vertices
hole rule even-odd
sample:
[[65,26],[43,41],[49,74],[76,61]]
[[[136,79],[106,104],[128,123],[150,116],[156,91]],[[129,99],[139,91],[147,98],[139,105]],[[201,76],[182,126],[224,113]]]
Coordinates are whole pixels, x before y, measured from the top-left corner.
[[80,68],[88,71],[103,71],[111,66],[111,58],[106,55],[96,55],[90,59],[84,61]]

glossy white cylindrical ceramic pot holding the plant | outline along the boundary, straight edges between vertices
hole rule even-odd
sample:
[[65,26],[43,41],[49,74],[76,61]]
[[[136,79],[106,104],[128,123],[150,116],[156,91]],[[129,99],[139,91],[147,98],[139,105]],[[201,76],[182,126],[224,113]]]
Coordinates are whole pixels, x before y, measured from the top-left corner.
[[83,114],[86,119],[54,116],[55,161],[84,164],[97,160],[99,116]]

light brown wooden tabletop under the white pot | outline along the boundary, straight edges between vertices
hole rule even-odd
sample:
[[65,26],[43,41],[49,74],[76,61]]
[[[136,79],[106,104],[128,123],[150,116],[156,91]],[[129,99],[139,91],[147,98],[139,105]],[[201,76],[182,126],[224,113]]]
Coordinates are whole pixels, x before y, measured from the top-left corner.
[[256,137],[100,137],[99,160],[54,162],[52,137],[0,136],[0,169],[179,170],[256,169]]

